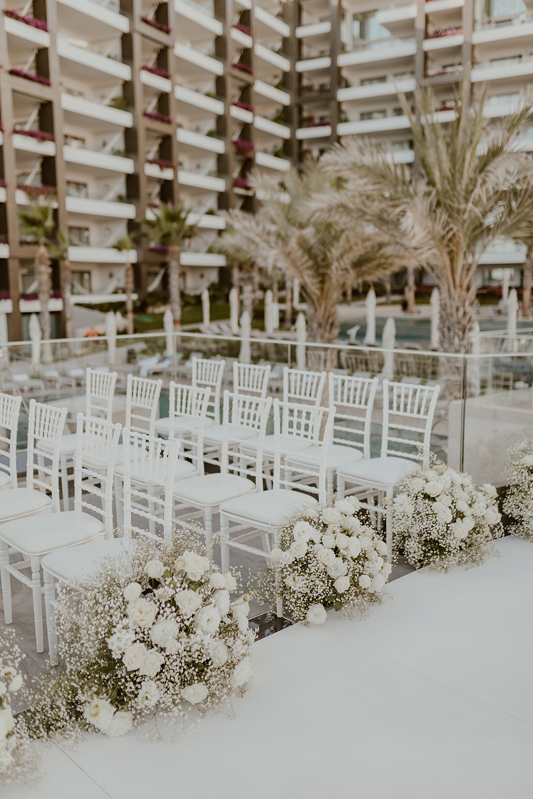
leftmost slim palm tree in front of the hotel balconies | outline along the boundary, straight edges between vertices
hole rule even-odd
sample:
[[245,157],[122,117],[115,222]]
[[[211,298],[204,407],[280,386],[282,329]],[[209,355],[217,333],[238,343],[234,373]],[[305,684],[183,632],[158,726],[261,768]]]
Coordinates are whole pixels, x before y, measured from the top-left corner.
[[41,303],[42,338],[50,340],[51,326],[48,303],[52,282],[47,246],[54,231],[54,209],[52,209],[50,201],[46,201],[46,199],[36,200],[31,203],[29,209],[18,212],[18,221],[22,234],[38,243],[37,255],[34,260],[34,273],[38,284],[38,299]]

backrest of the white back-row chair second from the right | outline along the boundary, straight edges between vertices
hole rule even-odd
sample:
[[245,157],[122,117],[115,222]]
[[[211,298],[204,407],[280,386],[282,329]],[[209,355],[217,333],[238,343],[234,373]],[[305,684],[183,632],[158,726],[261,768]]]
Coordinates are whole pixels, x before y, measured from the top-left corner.
[[336,407],[332,443],[356,447],[370,457],[372,409],[377,377],[348,377],[329,372],[329,401]]

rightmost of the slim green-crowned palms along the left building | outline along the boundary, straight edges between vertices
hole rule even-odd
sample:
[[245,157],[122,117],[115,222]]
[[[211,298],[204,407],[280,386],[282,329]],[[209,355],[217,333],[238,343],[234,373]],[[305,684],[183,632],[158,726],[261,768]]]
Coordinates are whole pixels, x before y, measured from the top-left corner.
[[169,295],[170,310],[174,317],[174,329],[181,328],[181,270],[180,250],[184,241],[192,239],[196,225],[188,225],[189,209],[183,205],[160,205],[153,212],[154,219],[142,221],[141,235],[153,244],[169,248]]

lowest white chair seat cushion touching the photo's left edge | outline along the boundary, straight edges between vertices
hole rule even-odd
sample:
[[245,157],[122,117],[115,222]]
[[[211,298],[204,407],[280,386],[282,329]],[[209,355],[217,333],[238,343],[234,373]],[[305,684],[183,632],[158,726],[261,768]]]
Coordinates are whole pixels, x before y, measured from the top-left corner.
[[0,535],[19,552],[41,555],[62,547],[74,547],[104,531],[100,519],[88,513],[65,511],[32,516],[30,519],[14,519],[2,525]]

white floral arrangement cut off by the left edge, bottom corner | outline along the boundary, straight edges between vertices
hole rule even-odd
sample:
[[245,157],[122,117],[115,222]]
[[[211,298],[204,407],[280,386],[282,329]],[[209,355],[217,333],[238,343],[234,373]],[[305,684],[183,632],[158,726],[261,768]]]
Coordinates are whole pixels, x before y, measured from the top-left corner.
[[14,714],[14,702],[26,704],[20,670],[24,657],[13,630],[0,627],[0,785],[34,781],[40,766],[40,754],[30,744],[23,714]]

